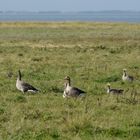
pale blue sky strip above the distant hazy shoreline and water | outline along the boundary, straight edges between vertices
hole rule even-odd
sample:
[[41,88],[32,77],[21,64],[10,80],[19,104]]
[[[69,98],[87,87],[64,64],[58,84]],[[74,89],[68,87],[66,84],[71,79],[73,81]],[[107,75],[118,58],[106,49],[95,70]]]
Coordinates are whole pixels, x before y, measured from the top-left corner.
[[0,11],[140,11],[140,0],[0,0]]

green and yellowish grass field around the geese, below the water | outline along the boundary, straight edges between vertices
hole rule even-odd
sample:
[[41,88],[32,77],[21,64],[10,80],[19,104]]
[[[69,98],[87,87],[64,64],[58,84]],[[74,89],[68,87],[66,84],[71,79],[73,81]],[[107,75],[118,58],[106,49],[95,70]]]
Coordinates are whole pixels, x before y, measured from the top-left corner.
[[[19,69],[40,93],[16,89]],[[67,75],[85,99],[63,99]],[[1,22],[0,139],[140,139],[140,24]]]

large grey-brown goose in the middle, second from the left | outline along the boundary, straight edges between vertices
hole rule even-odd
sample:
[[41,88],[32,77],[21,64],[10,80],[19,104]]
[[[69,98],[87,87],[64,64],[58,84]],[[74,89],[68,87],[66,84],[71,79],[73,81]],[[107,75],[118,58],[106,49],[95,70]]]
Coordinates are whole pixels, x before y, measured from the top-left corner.
[[65,89],[63,93],[63,98],[78,97],[85,94],[85,91],[82,91],[81,89],[71,86],[71,80],[69,76],[66,76],[64,80],[65,80]]

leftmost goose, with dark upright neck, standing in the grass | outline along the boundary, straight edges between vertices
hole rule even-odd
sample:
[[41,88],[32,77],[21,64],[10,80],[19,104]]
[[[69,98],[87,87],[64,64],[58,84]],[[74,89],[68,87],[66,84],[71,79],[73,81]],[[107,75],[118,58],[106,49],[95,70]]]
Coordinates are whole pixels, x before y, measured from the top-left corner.
[[23,93],[29,91],[32,93],[36,93],[38,92],[38,89],[34,88],[32,85],[24,82],[21,80],[21,72],[20,70],[18,71],[18,77],[17,77],[17,81],[16,81],[16,88],[20,91],[22,91]]

